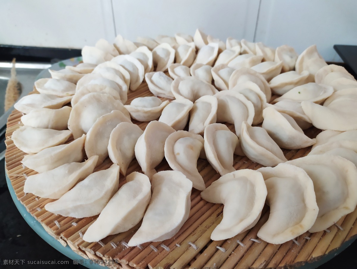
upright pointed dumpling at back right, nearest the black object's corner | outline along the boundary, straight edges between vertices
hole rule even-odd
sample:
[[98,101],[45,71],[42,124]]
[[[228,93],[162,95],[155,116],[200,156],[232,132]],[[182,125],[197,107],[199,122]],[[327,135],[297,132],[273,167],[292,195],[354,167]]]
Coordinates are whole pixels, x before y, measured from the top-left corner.
[[326,65],[327,63],[318,53],[316,45],[312,45],[297,57],[295,71],[301,73],[306,70],[309,72],[308,80],[315,82],[316,72]]

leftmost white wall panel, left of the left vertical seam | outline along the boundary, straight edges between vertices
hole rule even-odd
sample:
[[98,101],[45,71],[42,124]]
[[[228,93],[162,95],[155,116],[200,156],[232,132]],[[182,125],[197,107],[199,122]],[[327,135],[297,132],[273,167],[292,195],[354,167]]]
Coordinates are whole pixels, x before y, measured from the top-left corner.
[[0,1],[0,44],[82,48],[115,38],[110,0]]

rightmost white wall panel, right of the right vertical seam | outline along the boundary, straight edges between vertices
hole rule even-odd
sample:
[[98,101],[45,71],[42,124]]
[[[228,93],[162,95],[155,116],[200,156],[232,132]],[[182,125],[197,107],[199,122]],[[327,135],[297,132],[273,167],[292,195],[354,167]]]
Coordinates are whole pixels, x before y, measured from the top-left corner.
[[342,62],[333,45],[357,45],[356,10],[356,0],[261,0],[255,41],[299,54],[316,44],[326,61]]

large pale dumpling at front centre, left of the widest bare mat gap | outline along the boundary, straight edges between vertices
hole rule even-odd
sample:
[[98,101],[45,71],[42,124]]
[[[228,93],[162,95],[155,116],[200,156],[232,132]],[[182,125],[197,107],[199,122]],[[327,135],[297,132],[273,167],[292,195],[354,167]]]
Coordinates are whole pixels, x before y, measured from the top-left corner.
[[188,219],[192,182],[185,175],[178,171],[157,172],[151,188],[149,206],[139,230],[129,240],[129,246],[169,239]]

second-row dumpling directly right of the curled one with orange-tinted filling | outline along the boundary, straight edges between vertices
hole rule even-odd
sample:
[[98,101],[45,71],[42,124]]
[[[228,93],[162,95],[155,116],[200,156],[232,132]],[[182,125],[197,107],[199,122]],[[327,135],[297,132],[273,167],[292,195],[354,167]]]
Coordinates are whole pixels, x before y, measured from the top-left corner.
[[238,137],[225,124],[212,123],[203,135],[207,161],[221,176],[236,171],[233,154],[239,148]]

